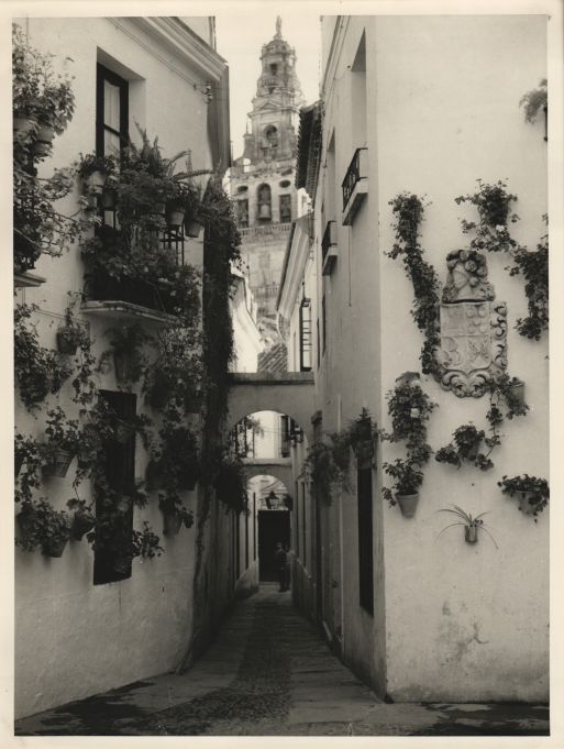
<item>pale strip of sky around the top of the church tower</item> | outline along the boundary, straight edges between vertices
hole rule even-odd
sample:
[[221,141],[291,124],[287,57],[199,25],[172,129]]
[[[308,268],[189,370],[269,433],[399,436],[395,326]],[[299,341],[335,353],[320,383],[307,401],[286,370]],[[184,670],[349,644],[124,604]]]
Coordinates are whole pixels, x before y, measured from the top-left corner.
[[[266,5],[272,5],[267,8]],[[305,3],[303,3],[305,4]],[[276,16],[281,18],[281,35],[296,47],[296,70],[306,98],[312,103],[319,98],[320,20],[319,14],[301,5],[289,10],[290,3],[264,3],[261,9],[245,11],[234,3],[233,10],[218,10],[215,34],[218,53],[229,64],[231,140],[233,157],[243,153],[243,133],[251,100],[256,93],[261,75],[261,48],[276,32]],[[280,10],[283,8],[284,10]],[[288,10],[287,10],[288,9]]]

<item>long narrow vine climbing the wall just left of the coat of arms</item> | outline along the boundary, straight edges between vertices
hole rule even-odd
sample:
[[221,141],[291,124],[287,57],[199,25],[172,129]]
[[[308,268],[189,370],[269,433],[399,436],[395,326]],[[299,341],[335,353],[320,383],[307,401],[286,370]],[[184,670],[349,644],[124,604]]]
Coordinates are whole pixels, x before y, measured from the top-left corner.
[[440,342],[439,278],[433,266],[423,258],[423,249],[419,243],[419,227],[423,220],[424,205],[421,198],[409,192],[400,192],[389,200],[388,205],[391,206],[396,219],[392,224],[396,242],[387,255],[392,260],[401,255],[406,274],[413,285],[411,315],[424,334],[421,367],[424,374],[433,374],[438,370],[434,353]]

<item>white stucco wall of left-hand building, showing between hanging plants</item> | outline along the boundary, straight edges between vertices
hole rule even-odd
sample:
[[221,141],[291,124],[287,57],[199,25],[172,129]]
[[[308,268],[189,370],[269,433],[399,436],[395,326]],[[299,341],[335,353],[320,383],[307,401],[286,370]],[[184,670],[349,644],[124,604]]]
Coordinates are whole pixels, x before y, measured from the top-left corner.
[[[31,19],[22,26],[30,33],[32,45],[54,53],[57,62],[65,56],[74,60],[67,67],[75,75],[75,115],[65,133],[56,137],[53,158],[43,163],[41,174],[68,165],[79,152],[95,150],[96,63],[97,54],[102,52],[130,71],[131,135],[136,135],[137,121],[147,128],[152,140],[158,135],[165,156],[191,148],[195,168],[210,166],[204,97],[191,82],[203,82],[203,76],[159,49],[158,43],[132,21]],[[62,212],[76,210],[75,198],[62,202]],[[186,246],[188,262],[201,265],[201,241],[188,241]],[[36,289],[19,291],[18,299],[40,307],[35,319],[43,345],[55,348],[56,326],[67,304],[67,290],[81,290],[82,272],[78,247],[59,258],[42,257],[36,273],[46,276],[47,282]],[[109,348],[106,331],[114,321],[90,318],[88,322],[96,339],[92,350],[99,355]],[[99,375],[97,384],[119,389],[112,372]],[[137,394],[139,412],[143,410],[140,385],[133,392]],[[63,406],[70,417],[76,415],[69,383],[47,403]],[[41,436],[43,417],[40,415],[35,420],[18,397],[15,418],[24,433]],[[136,476],[144,476],[147,455],[137,440]],[[42,494],[57,509],[65,508],[74,494],[71,480],[73,466],[66,478],[48,480]],[[89,498],[87,484],[80,487],[80,496]],[[195,502],[196,492],[187,493],[188,509],[195,509]],[[165,553],[154,560],[134,560],[131,579],[119,583],[92,584],[93,555],[86,540],[70,542],[64,555],[54,560],[42,557],[40,551],[16,550],[16,717],[177,665],[191,634],[195,530],[183,529],[172,539],[164,537],[155,495],[147,508],[135,509],[134,527],[141,528],[143,519],[148,519],[161,537]],[[221,593],[228,595],[223,588]]]

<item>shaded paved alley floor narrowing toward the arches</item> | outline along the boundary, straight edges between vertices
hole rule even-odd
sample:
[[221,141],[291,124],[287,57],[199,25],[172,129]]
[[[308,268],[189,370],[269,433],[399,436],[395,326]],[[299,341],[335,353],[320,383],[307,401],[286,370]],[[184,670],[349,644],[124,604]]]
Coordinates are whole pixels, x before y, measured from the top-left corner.
[[240,602],[185,674],[15,724],[16,736],[546,736],[546,705],[387,704],[275,585]]

